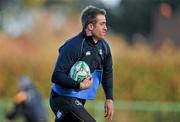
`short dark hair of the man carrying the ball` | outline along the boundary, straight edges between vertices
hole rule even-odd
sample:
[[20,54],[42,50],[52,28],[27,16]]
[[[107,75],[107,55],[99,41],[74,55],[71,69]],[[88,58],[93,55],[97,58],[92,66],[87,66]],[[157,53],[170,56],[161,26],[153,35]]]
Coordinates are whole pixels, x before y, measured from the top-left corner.
[[81,24],[83,28],[86,28],[89,23],[96,23],[96,16],[99,14],[106,15],[106,11],[92,5],[84,8],[81,12]]

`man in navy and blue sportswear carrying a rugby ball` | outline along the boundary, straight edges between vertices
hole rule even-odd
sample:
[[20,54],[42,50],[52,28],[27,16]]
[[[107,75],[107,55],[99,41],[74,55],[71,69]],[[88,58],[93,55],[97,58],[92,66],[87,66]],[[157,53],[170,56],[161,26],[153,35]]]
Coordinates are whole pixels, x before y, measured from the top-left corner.
[[[113,75],[110,47],[104,40],[106,11],[87,6],[81,13],[83,31],[60,47],[52,74],[50,106],[56,122],[95,122],[84,108],[87,99],[94,99],[102,82],[106,95],[105,117],[113,117]],[[79,83],[69,77],[72,65],[85,61],[92,76]]]

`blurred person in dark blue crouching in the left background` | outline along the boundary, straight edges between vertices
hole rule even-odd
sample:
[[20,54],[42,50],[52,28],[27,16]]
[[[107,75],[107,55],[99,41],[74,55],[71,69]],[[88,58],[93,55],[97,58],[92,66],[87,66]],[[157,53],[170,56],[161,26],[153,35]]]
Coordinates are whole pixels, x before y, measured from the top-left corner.
[[6,121],[22,116],[25,122],[48,122],[48,113],[42,97],[28,76],[22,76],[18,82],[18,92],[12,111],[6,114]]

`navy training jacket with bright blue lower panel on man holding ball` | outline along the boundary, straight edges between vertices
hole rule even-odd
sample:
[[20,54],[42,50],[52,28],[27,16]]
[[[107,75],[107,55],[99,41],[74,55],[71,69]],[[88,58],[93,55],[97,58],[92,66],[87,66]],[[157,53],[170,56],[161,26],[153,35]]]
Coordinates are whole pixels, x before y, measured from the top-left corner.
[[[78,91],[80,83],[68,76],[76,61],[85,61],[91,70],[93,85]],[[105,40],[93,44],[91,36],[83,32],[67,40],[59,48],[59,56],[52,74],[52,90],[60,95],[81,99],[94,99],[102,83],[106,99],[113,99],[112,56]]]

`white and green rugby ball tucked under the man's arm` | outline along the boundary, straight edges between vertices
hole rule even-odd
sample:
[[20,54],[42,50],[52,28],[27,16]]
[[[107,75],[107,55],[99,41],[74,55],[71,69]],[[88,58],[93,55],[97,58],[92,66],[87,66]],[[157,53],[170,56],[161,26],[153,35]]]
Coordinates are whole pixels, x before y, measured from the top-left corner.
[[91,74],[88,64],[84,61],[77,61],[70,69],[69,76],[78,82],[82,82]]

